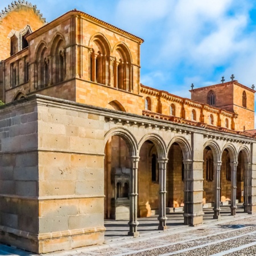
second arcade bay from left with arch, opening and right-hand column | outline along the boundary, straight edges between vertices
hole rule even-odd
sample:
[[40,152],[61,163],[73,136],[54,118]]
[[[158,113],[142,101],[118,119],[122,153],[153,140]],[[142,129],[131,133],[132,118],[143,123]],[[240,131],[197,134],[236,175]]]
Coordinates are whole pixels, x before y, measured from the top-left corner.
[[138,216],[159,212],[158,229],[166,226],[166,144],[158,134],[147,134],[139,142]]

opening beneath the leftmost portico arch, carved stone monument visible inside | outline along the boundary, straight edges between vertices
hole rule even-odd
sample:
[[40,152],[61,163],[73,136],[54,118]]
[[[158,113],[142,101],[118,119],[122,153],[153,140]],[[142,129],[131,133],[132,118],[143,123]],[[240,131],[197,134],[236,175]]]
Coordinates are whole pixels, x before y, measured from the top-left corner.
[[131,158],[129,147],[118,135],[109,138],[105,146],[105,219],[129,220]]

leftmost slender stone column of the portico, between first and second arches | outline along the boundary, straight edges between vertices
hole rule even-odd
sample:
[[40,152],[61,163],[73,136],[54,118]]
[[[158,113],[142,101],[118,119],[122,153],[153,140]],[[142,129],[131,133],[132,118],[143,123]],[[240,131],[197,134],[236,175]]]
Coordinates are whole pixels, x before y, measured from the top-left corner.
[[131,156],[131,176],[130,176],[130,221],[128,222],[130,226],[130,231],[128,236],[139,237],[139,232],[137,231],[137,226],[139,222],[137,221],[137,205],[138,205],[138,164],[139,157]]

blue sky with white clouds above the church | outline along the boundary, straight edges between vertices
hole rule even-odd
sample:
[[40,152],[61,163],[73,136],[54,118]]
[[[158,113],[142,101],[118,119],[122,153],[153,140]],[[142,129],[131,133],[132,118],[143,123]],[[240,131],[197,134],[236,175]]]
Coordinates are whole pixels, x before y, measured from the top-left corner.
[[[31,0],[50,22],[74,8],[144,39],[141,82],[190,98],[222,76],[256,85],[256,1]],[[0,10],[11,3],[1,0]]]

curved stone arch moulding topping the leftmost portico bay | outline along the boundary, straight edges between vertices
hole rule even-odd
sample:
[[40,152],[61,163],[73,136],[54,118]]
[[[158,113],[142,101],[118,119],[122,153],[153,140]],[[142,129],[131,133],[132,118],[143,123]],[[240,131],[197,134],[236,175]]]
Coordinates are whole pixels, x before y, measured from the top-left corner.
[[127,147],[129,148],[131,156],[138,155],[137,139],[134,137],[134,135],[129,130],[127,130],[123,127],[115,127],[115,128],[112,128],[111,130],[109,130],[104,136],[104,145],[106,145],[109,138],[111,138],[115,135],[120,136],[127,143]]

